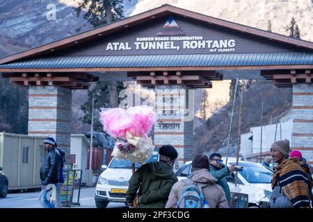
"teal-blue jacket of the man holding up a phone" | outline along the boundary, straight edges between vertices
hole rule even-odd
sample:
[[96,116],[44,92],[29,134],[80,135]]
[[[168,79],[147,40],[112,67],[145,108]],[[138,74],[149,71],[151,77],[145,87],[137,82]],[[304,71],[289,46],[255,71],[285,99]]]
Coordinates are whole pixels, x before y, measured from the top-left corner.
[[226,176],[230,175],[230,171],[228,171],[228,167],[223,167],[222,169],[216,169],[214,165],[210,164],[210,173],[214,178],[218,180],[216,183],[220,185],[220,187],[223,188],[227,201],[228,203],[230,203],[230,186],[228,186],[228,183],[226,180]]

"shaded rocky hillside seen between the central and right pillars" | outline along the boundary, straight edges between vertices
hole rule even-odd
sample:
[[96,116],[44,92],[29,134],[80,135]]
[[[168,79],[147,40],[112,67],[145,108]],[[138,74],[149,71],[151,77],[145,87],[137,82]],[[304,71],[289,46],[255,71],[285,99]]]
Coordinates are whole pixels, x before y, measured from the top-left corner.
[[[234,85],[234,84],[232,84]],[[234,92],[232,90],[232,92]],[[231,94],[233,99],[234,94]],[[281,119],[291,109],[291,88],[278,88],[266,80],[252,80],[248,82],[243,94],[243,110],[241,133],[248,133],[250,127],[261,125],[262,100],[264,101],[263,125]],[[234,117],[232,122],[230,155],[236,151],[239,126],[240,96],[237,92]],[[232,113],[232,101],[218,109],[207,120],[207,123],[198,125],[194,129],[194,153],[218,151],[225,154]]]

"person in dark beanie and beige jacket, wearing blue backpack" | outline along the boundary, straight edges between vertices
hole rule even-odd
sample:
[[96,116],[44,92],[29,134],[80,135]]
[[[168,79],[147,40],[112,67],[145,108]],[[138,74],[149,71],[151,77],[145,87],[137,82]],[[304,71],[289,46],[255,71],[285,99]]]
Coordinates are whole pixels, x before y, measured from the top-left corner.
[[206,155],[197,155],[191,164],[191,176],[176,182],[170,191],[166,208],[183,207],[177,203],[184,189],[190,185],[196,185],[202,189],[204,202],[207,201],[209,208],[229,208],[225,192],[217,185],[216,178],[209,173],[209,158]]

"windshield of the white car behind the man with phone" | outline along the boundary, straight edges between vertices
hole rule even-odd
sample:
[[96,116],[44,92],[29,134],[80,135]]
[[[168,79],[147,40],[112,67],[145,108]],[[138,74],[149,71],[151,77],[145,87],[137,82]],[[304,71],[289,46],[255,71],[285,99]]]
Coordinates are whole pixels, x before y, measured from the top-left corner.
[[[236,163],[230,163],[230,165],[234,164]],[[271,183],[273,173],[265,167],[248,162],[239,162],[239,166],[243,167],[243,170],[239,171],[239,174],[249,183]]]

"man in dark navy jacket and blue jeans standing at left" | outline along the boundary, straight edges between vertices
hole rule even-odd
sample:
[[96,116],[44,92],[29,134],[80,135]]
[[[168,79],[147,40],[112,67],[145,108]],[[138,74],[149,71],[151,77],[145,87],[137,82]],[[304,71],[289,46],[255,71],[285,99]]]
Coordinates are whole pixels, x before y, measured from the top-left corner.
[[[45,155],[45,160],[42,162],[40,168],[40,180],[41,192],[40,192],[40,204],[45,208],[54,208],[54,205],[47,199],[49,188],[51,185],[55,188],[58,183],[61,167],[61,157],[56,151],[56,142],[54,138],[49,137],[44,141],[45,149],[47,150],[47,155]],[[48,186],[49,185],[49,186]]]

